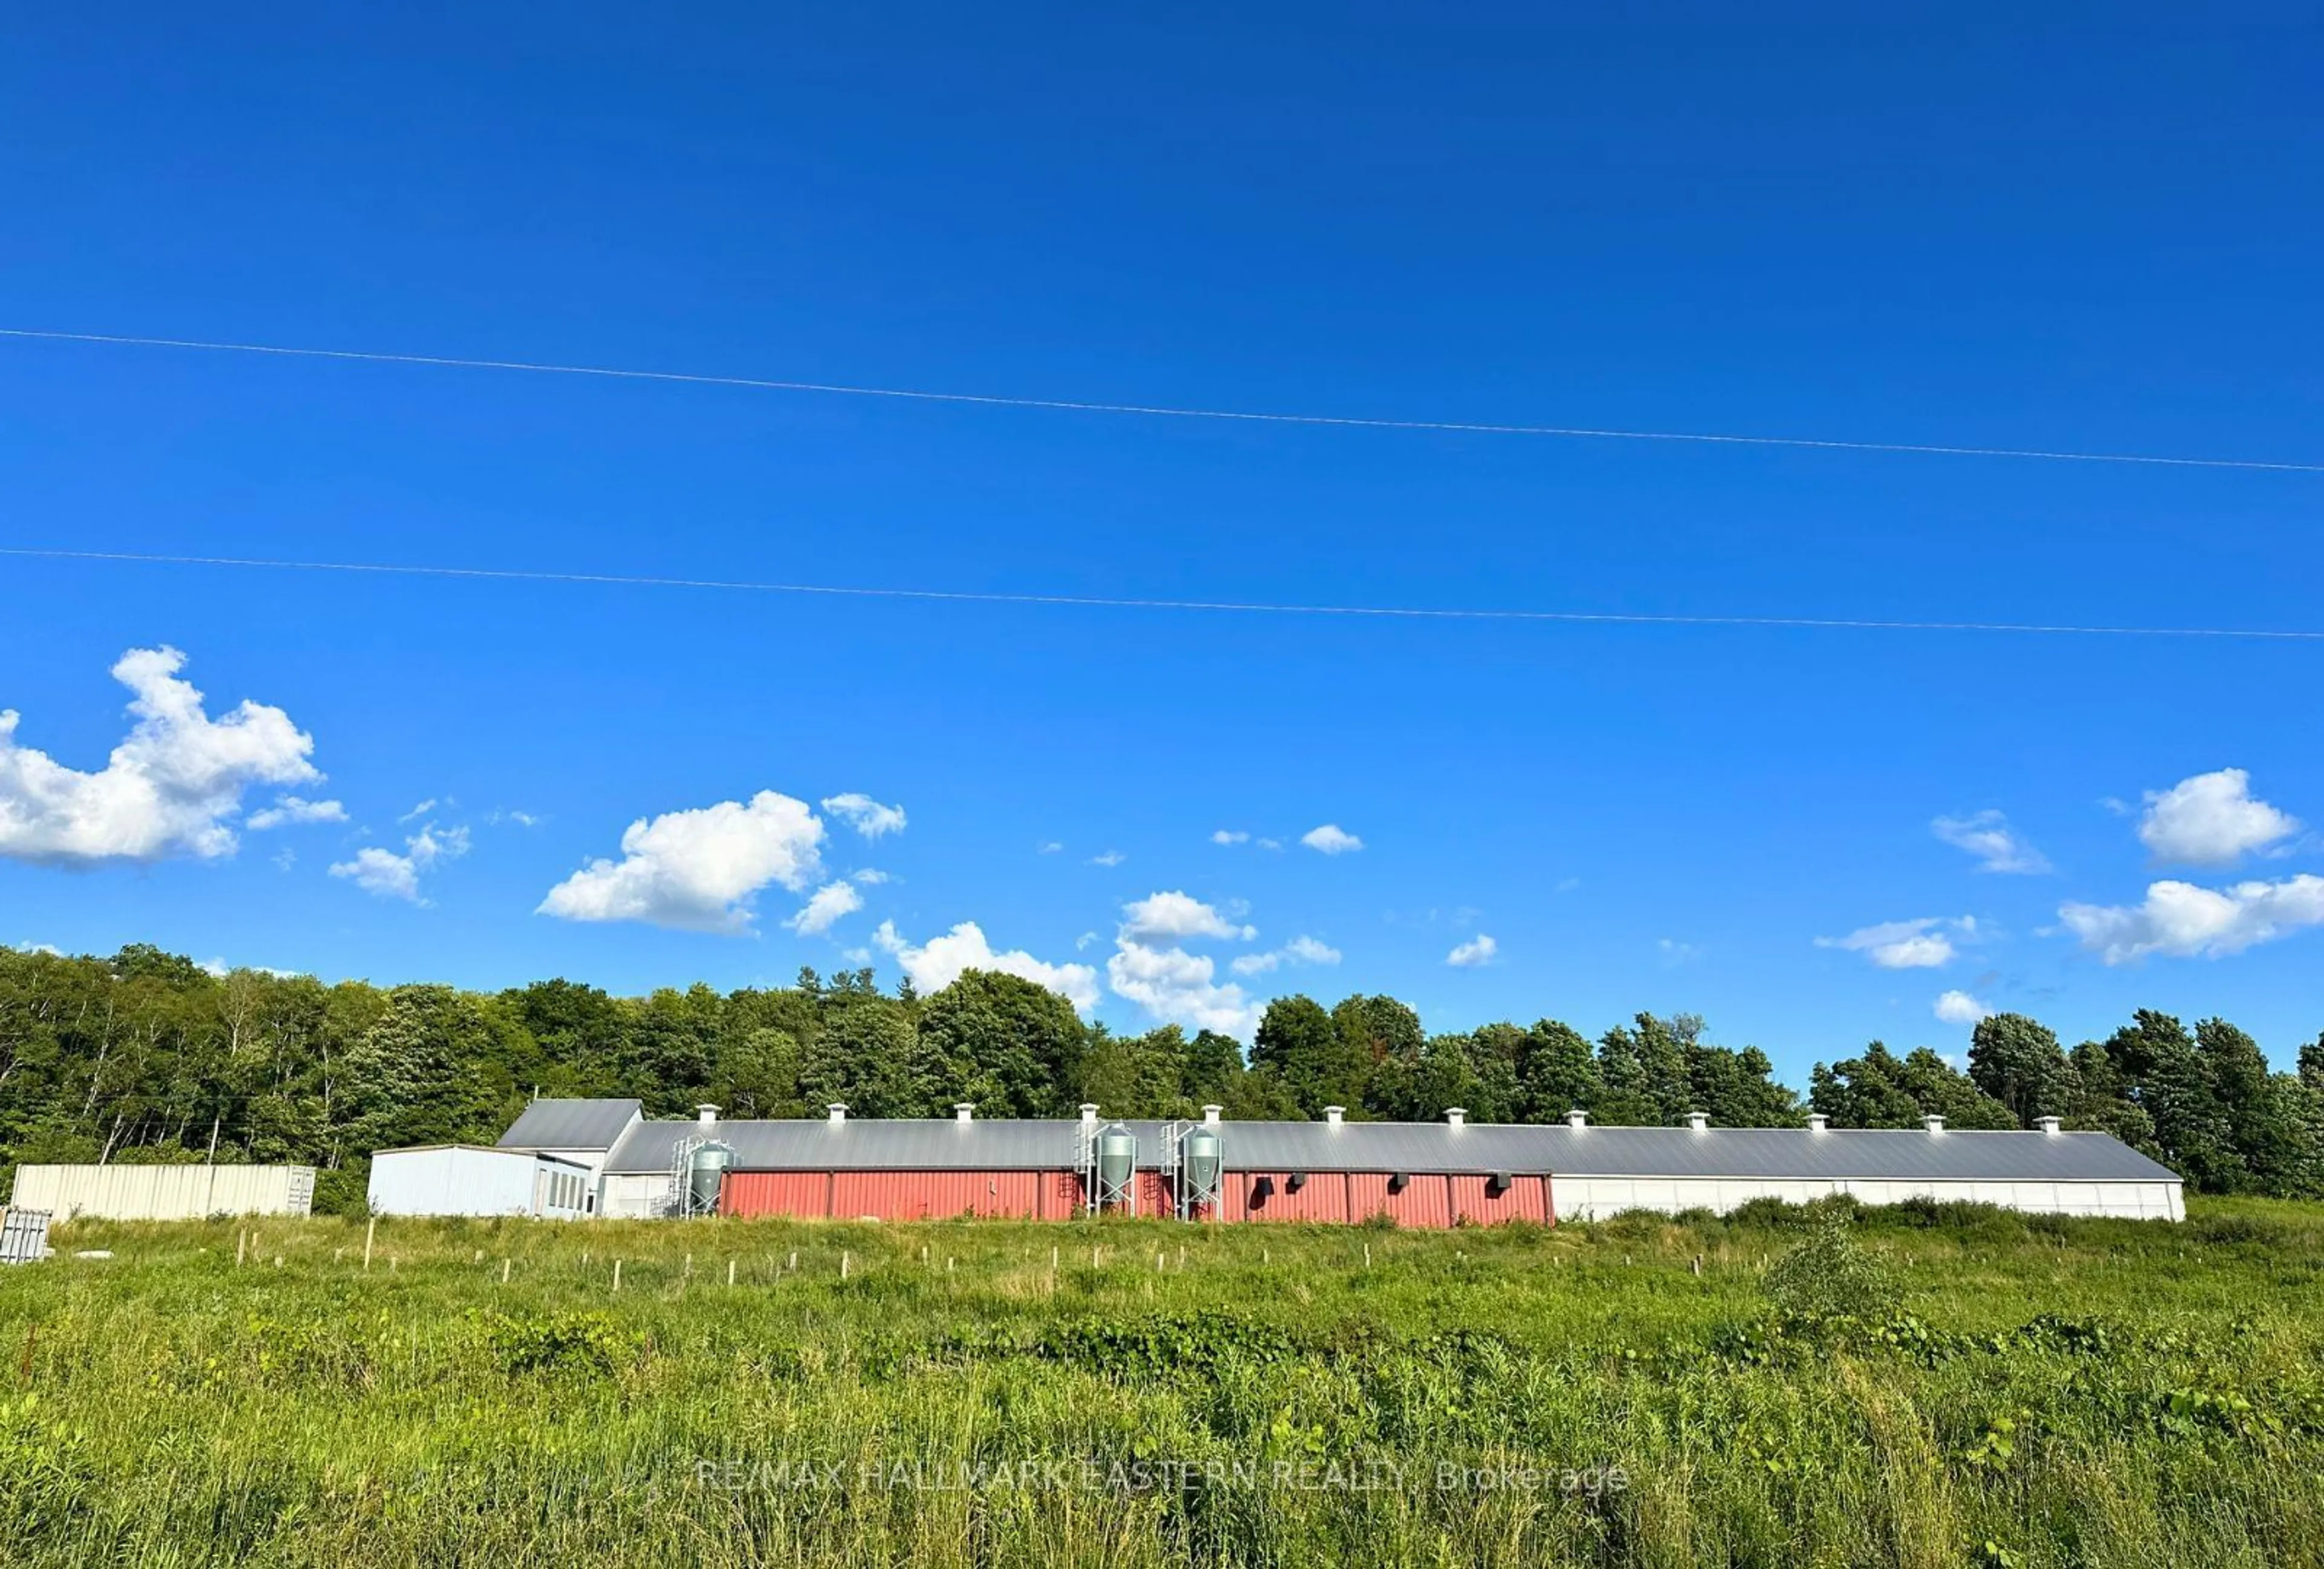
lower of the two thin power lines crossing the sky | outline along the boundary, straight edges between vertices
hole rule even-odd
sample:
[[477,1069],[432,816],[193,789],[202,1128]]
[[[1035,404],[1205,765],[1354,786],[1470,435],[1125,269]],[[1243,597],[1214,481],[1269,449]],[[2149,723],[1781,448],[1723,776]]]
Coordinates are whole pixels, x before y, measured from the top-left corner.
[[1111,595],[999,593],[967,588],[865,588],[848,583],[762,583],[702,576],[639,576],[618,572],[539,572],[514,567],[414,567],[360,560],[274,560],[253,556],[158,556],[142,551],[49,551],[0,546],[0,556],[33,560],[102,560],[151,567],[253,567],[270,572],[358,572],[376,576],[444,576],[497,583],[593,583],[609,588],[711,588],[725,593],[788,593],[839,600],[939,600],[953,604],[1041,604],[1053,609],[1213,611],[1236,616],[1353,616],[1380,621],[1534,621],[1571,625],[1650,628],[1794,628],[1817,632],[2027,632],[2045,637],[2219,637],[2252,642],[2324,642],[2324,632],[2264,628],[2138,628],[2033,621],[1875,621],[1838,616],[1657,616],[1629,611],[1436,609],[1392,604],[1269,604],[1255,600],[1141,600]]

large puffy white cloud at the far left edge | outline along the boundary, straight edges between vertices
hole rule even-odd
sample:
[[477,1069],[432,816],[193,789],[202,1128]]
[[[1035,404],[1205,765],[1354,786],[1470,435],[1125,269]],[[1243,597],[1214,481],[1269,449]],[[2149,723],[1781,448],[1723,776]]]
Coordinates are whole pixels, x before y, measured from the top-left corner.
[[114,679],[135,697],[137,723],[95,774],[16,746],[14,709],[0,709],[0,855],[42,865],[232,855],[230,818],[251,786],[323,779],[307,760],[314,737],[290,716],[244,700],[223,718],[177,676],[177,649],[130,649]]

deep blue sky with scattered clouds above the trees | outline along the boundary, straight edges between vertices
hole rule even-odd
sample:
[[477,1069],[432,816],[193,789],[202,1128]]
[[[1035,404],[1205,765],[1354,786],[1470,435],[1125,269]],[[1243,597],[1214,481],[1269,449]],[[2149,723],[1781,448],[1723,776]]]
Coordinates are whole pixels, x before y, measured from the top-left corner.
[[[2319,463],[2319,72],[2301,7],[49,14],[0,56],[0,328]],[[2324,628],[2319,497],[0,339],[16,549]],[[1436,1027],[1690,1009],[1794,1079],[1961,1051],[1954,990],[2068,1039],[2226,1013],[2280,1062],[2324,1030],[2312,642],[33,558],[0,604],[0,941],[641,990],[941,974],[976,923],[1120,1027],[1294,988]],[[156,700],[286,721],[98,774],[109,669],[165,646]],[[344,821],[251,828],[281,795]],[[1978,814],[2047,869],[1931,830]],[[860,907],[786,930],[834,883]]]

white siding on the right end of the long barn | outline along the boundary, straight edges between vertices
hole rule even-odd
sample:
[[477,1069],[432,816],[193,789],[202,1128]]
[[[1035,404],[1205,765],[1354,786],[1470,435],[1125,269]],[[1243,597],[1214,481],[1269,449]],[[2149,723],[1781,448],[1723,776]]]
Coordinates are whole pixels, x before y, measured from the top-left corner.
[[1734,1178],[1734,1176],[1552,1176],[1550,1202],[1559,1220],[1604,1220],[1624,1209],[1727,1213],[1750,1199],[1806,1204],[1834,1192],[1864,1204],[1936,1202],[1999,1204],[2047,1216],[2126,1216],[2185,1220],[2180,1183],[1994,1183],[1994,1181],[1868,1181],[1868,1178]]

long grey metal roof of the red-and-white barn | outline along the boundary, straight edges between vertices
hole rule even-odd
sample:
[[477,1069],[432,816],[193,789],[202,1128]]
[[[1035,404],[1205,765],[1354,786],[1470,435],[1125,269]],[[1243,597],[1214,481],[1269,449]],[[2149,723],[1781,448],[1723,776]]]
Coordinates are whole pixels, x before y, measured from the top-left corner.
[[[1139,1165],[1162,1162],[1162,1123],[1125,1123]],[[514,1132],[514,1130],[511,1130]],[[1220,1123],[1229,1172],[1511,1172],[1557,1176],[1729,1176],[1892,1181],[2136,1181],[2178,1174],[2108,1134],[1806,1127],[1566,1127],[1552,1123]],[[1074,1120],[639,1123],[607,1172],[667,1172],[674,1146],[713,1137],[737,1172],[1062,1172]],[[502,1141],[507,1144],[507,1139]]]

